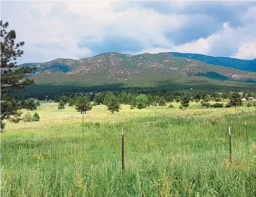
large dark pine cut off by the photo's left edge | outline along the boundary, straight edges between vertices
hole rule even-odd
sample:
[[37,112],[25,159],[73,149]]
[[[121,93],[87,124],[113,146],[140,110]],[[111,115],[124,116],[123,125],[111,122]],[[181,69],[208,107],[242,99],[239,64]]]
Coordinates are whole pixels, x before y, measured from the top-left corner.
[[4,129],[4,119],[19,122],[18,111],[21,107],[16,100],[14,92],[24,89],[26,86],[34,85],[34,80],[24,79],[25,75],[35,70],[35,67],[18,67],[16,58],[24,53],[19,47],[24,46],[24,42],[16,43],[16,32],[7,31],[9,23],[1,20],[1,130]]

